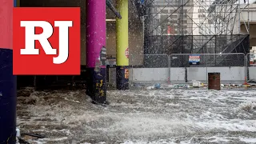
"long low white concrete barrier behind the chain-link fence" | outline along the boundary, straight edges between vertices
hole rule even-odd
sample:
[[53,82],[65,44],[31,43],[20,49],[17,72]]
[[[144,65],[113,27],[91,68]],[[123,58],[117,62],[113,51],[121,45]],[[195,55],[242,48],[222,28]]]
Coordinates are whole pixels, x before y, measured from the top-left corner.
[[[255,67],[256,72],[256,67]],[[221,73],[222,83],[243,83],[246,77],[245,67],[188,67],[187,80],[197,80],[207,82],[208,73]],[[171,83],[184,83],[186,78],[186,70],[184,67],[172,67],[170,71],[168,68],[133,68],[130,69],[130,81],[138,83],[154,83],[154,82],[168,82],[170,78]],[[253,78],[256,79],[256,73]]]

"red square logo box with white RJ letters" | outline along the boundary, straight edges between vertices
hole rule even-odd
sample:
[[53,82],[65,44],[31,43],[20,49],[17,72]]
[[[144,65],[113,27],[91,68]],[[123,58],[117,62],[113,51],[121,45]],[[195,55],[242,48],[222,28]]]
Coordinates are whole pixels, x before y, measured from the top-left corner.
[[80,8],[15,7],[15,75],[80,74]]

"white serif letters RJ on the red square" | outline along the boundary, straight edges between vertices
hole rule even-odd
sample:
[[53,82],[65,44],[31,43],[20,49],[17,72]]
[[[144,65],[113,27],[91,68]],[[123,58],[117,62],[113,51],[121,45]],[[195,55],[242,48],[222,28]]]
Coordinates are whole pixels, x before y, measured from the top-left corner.
[[[42,49],[46,54],[57,54],[57,49],[53,49],[48,38],[54,33],[54,28],[46,21],[21,21],[22,27],[25,27],[25,49],[21,54],[39,54],[35,48],[34,41],[40,42]],[[53,58],[54,64],[62,64],[69,57],[69,27],[73,26],[72,21],[54,21],[54,26],[59,28],[59,48],[58,57]],[[35,27],[42,28],[42,34],[34,34]]]

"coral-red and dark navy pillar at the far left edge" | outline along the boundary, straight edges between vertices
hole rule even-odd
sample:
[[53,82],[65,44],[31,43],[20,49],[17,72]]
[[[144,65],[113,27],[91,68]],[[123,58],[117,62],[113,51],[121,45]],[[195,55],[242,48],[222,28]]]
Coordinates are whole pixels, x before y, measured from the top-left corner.
[[14,1],[0,0],[0,143],[8,144],[16,143],[17,98],[12,40]]

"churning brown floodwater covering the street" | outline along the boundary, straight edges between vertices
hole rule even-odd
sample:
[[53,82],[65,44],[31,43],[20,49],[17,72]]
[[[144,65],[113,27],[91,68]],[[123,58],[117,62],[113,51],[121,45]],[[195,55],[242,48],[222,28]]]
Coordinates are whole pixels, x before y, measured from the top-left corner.
[[[24,94],[22,96],[22,94]],[[85,91],[21,93],[18,126],[34,143],[256,143],[256,90],[108,91],[95,106]]]

